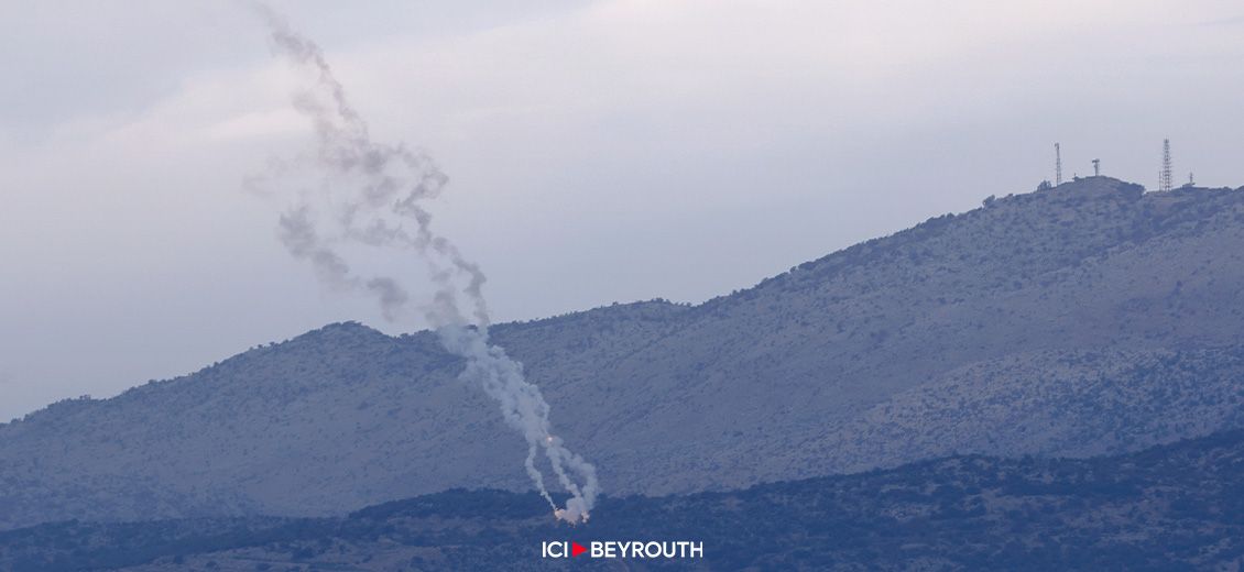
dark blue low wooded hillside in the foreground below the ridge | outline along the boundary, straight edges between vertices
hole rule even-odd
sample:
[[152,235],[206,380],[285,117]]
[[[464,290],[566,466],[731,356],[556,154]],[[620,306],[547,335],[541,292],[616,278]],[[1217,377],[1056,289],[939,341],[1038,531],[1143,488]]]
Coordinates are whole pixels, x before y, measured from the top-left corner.
[[[545,560],[546,541],[694,541],[699,560]],[[52,524],[0,570],[1237,570],[1244,431],[1122,456],[953,456],[730,492],[606,497],[557,525],[535,494],[453,490],[345,517]]]

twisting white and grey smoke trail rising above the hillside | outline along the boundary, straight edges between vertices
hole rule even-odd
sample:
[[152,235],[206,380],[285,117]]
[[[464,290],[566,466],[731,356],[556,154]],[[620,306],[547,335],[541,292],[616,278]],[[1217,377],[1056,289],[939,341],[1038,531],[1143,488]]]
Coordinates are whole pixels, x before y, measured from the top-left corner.
[[[279,224],[285,247],[307,260],[325,284],[372,295],[388,321],[408,317],[407,288],[392,276],[360,275],[342,246],[403,249],[420,255],[435,286],[423,317],[445,349],[465,359],[460,377],[479,383],[496,399],[505,422],[526,439],[524,465],[554,515],[569,522],[587,521],[598,492],[596,469],[552,434],[549,404],[540,388],[524,378],[522,366],[489,343],[484,272],[453,242],[432,231],[432,214],[423,203],[437,196],[448,178],[422,152],[372,141],[320,47],[267,6],[256,4],[255,9],[267,24],[276,52],[315,77],[313,85],[294,98],[295,108],[315,126],[315,152],[300,160],[276,162],[248,180],[251,188],[270,193],[290,188],[309,173],[317,175],[290,193],[294,201]],[[460,298],[469,305],[470,318],[459,306]],[[565,507],[559,507],[545,487],[536,466],[540,451],[571,495]]]

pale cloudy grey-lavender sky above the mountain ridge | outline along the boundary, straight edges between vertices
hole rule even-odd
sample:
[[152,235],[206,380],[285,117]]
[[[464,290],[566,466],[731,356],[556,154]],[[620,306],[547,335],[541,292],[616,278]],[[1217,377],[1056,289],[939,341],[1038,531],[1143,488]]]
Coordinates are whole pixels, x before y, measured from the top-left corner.
[[[274,1],[498,321],[700,302],[1054,177],[1244,185],[1238,1]],[[357,320],[243,182],[309,148],[244,2],[0,1],[0,419]],[[371,260],[419,284],[408,256]],[[430,293],[430,287],[425,292]]]

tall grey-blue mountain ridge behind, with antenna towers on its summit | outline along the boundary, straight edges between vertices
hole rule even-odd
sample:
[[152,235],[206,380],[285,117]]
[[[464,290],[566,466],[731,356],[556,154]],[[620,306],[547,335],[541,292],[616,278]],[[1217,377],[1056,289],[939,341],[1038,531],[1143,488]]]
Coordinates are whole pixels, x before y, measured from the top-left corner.
[[[493,338],[606,492],[662,495],[1244,427],[1242,302],[1244,189],[1095,177],[702,305],[615,305]],[[0,528],[525,490],[521,438],[460,368],[429,332],[340,323],[53,404],[0,425]]]

